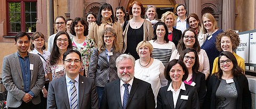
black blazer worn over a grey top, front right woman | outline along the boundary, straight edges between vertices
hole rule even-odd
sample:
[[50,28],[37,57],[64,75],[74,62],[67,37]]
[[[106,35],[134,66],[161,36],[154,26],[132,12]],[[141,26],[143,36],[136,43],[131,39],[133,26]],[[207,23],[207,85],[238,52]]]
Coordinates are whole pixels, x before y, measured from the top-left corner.
[[[220,76],[221,77],[221,76]],[[237,109],[238,108],[252,108],[252,98],[251,91],[249,90],[249,84],[247,78],[244,76],[234,77],[234,82],[237,90]],[[215,95],[216,91],[220,85],[220,80],[214,74],[210,77],[206,96],[204,100],[203,107],[204,108],[216,108],[215,107]]]

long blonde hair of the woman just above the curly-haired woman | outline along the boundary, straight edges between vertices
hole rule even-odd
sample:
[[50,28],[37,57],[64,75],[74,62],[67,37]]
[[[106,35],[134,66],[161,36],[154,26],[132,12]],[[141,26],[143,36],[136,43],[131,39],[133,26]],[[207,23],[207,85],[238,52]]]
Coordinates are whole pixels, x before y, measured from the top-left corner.
[[202,31],[203,33],[207,33],[207,30],[204,28],[204,17],[210,19],[210,21],[211,21],[212,24],[213,24],[214,30],[215,30],[215,29],[218,29],[217,21],[214,19],[213,15],[210,14],[210,13],[205,13],[205,14],[202,16],[202,22],[201,22],[202,28],[201,28],[200,31]]

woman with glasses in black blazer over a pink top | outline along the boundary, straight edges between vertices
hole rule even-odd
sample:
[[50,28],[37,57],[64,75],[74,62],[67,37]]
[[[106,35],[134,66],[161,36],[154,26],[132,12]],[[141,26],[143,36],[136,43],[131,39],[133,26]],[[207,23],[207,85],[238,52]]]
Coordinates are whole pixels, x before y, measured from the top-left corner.
[[195,86],[199,98],[199,104],[202,108],[204,97],[206,94],[205,86],[205,74],[198,72],[199,69],[199,59],[198,54],[194,48],[185,49],[181,55],[180,60],[183,60],[188,69],[188,78],[183,81],[187,85]]

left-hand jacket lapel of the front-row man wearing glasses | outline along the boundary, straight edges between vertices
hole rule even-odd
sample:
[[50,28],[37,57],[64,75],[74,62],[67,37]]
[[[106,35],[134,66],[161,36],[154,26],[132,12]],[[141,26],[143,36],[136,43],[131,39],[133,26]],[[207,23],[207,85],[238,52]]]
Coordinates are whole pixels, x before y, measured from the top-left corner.
[[66,104],[66,107],[68,109],[70,109],[70,105],[69,105],[69,99],[68,99],[68,90],[67,90],[67,83],[66,83],[66,78],[65,76],[63,76],[63,78],[61,78],[61,81],[60,81],[60,89],[63,89],[63,99],[64,99],[64,102]]

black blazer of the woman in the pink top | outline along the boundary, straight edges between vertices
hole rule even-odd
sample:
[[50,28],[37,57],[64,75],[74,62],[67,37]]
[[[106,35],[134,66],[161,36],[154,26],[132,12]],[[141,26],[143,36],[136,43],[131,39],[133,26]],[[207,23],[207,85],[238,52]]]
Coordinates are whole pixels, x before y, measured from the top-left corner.
[[199,98],[200,108],[202,108],[204,103],[204,97],[206,95],[205,74],[201,72],[193,72],[192,76],[192,81],[196,83],[195,87]]

